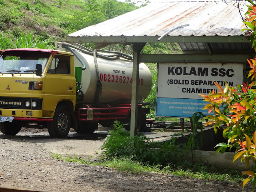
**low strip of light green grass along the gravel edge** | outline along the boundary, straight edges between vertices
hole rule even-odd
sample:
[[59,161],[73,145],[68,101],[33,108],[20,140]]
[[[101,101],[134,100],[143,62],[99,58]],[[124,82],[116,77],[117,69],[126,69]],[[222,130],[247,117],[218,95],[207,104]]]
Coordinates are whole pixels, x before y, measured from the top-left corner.
[[195,162],[194,164],[190,162],[183,162],[183,165],[170,164],[163,167],[160,165],[149,166],[140,162],[134,162],[129,158],[113,158],[112,160],[101,159],[100,162],[91,162],[90,158],[84,160],[82,158],[79,158],[78,156],[65,157],[61,154],[52,153],[52,157],[66,162],[76,162],[78,164],[93,166],[106,166],[108,168],[116,169],[121,172],[128,172],[130,174],[157,172],[161,174],[172,174],[177,176],[200,178],[214,181],[228,181],[233,183],[238,182],[239,180],[244,180],[244,177],[241,177],[240,170],[220,168],[213,165],[204,164],[202,162]]

